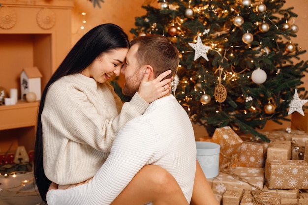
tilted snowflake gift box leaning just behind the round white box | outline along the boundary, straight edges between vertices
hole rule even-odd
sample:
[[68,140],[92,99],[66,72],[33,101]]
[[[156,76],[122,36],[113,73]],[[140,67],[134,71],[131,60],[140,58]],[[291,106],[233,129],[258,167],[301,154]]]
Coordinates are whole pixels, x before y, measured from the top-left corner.
[[220,145],[220,167],[224,167],[232,161],[232,158],[236,158],[238,147],[243,143],[243,140],[229,126],[216,128],[212,140]]

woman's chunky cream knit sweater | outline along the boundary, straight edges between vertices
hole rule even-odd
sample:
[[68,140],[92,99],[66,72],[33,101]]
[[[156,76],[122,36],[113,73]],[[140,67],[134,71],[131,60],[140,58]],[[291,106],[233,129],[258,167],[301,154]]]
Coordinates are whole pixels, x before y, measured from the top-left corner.
[[41,117],[46,176],[58,184],[92,178],[109,155],[119,130],[148,106],[135,94],[122,107],[108,82],[99,84],[82,74],[53,83]]

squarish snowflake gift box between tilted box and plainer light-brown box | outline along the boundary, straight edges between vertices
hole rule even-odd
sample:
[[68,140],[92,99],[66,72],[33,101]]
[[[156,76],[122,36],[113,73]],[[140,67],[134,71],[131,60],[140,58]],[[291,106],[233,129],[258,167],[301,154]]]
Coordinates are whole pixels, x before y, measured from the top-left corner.
[[258,142],[244,142],[240,146],[240,152],[236,166],[264,168],[266,147]]

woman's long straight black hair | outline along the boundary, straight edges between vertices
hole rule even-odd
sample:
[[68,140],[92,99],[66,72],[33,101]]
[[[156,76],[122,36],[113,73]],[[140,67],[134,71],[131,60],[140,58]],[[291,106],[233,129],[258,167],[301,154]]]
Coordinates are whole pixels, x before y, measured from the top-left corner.
[[39,194],[44,202],[46,202],[46,194],[51,184],[51,181],[45,176],[43,169],[43,132],[41,115],[47,90],[52,83],[61,77],[83,71],[101,53],[117,48],[129,48],[129,40],[123,29],[114,24],[102,24],[94,27],[74,45],[59,68],[51,76],[42,92],[34,146],[34,179]]

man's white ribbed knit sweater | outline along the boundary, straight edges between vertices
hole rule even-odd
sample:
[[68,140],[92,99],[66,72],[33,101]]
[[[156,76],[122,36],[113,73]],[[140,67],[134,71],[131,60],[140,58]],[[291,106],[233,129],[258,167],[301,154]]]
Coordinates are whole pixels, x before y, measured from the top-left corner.
[[48,205],[109,205],[148,164],[171,173],[190,202],[196,169],[195,138],[189,117],[173,95],[154,101],[142,116],[124,125],[92,181],[49,191]]

